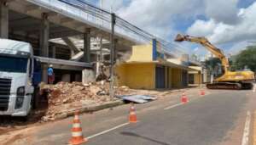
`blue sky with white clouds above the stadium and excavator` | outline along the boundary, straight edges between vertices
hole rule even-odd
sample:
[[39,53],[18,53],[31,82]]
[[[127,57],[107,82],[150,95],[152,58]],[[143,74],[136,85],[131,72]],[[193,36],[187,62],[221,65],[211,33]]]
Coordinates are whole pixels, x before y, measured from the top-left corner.
[[[102,7],[169,42],[177,33],[206,36],[227,55],[256,41],[256,0],[102,0]],[[190,54],[207,54],[200,45],[181,45]]]

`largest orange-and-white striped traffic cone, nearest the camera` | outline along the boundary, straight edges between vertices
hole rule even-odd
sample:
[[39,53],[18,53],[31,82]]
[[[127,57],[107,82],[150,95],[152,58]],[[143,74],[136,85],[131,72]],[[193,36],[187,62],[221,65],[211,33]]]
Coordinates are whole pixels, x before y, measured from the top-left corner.
[[83,137],[81,122],[79,120],[79,112],[76,112],[73,119],[72,138],[68,143],[79,145],[84,142],[87,142],[87,139]]

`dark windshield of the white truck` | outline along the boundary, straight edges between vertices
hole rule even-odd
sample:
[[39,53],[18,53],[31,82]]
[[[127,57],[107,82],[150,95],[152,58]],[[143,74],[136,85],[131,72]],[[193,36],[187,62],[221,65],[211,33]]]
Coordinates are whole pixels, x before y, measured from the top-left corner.
[[27,59],[15,57],[0,57],[0,71],[26,72]]

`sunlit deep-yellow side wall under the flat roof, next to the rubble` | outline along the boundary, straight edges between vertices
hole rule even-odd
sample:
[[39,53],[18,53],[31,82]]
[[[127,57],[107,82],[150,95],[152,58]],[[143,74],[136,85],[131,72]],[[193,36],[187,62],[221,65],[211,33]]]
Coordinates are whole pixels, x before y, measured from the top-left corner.
[[133,89],[154,89],[155,64],[122,64],[116,68],[117,85]]

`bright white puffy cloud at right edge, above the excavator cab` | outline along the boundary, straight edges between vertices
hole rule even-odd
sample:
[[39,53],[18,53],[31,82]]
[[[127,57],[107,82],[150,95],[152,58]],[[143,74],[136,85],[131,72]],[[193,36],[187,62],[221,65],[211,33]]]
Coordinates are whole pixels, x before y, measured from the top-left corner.
[[239,22],[233,25],[216,20],[196,20],[188,29],[190,35],[207,36],[213,43],[241,42],[256,38],[256,2],[237,11]]

